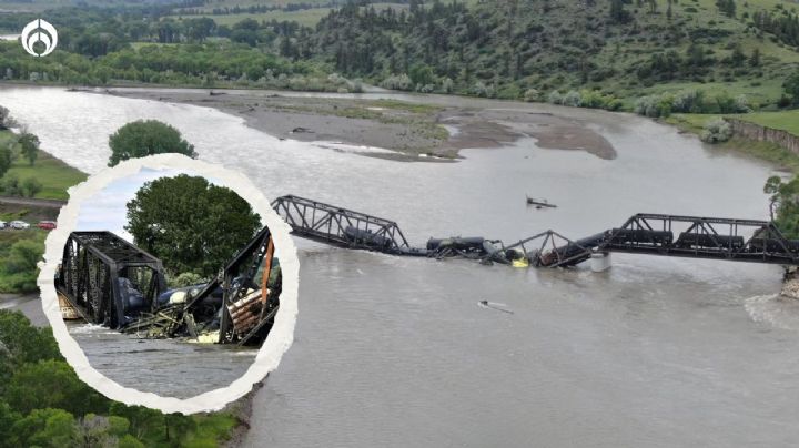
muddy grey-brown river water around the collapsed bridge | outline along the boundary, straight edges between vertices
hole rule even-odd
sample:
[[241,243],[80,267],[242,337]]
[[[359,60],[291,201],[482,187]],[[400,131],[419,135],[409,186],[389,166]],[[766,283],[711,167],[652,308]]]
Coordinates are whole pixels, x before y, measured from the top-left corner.
[[[169,122],[202,160],[241,170],[267,196],[393,218],[417,244],[547,228],[580,237],[637,212],[767,216],[768,165],[631,115],[513,104],[579,115],[616,147],[613,161],[522,140],[434,164],[281,142],[198,106],[31,88],[1,90],[0,104],[90,173],[120,125]],[[528,208],[527,193],[559,207]],[[297,243],[295,342],[255,397],[249,446],[799,444],[799,304],[776,298],[779,267],[615,254],[603,274],[528,271]],[[142,366],[109,362],[107,346],[84,344],[97,368],[135,385]],[[249,362],[224,356],[231,369]],[[186,369],[140,388],[224,384],[208,376]]]

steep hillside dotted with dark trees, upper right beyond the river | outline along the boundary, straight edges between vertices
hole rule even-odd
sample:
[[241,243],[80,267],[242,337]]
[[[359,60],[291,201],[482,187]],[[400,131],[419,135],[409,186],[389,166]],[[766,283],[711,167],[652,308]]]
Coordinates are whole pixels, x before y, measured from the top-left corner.
[[[776,101],[799,63],[799,41],[754,18],[796,21],[796,7],[722,8],[711,0],[513,0],[412,2],[405,14],[350,6],[322,19],[310,41],[343,73],[404,89],[520,98],[527,89],[588,88],[630,98],[705,84]],[[403,73],[412,85],[392,79]]]

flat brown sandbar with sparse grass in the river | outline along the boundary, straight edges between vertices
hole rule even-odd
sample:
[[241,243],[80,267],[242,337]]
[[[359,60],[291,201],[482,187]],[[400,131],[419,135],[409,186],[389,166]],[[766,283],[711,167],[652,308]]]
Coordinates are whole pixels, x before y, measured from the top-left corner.
[[370,98],[243,90],[109,89],[104,93],[214,108],[280,139],[376,146],[397,152],[391,159],[402,161],[454,160],[464,149],[500,147],[525,136],[536,139],[540,147],[616,157],[613,145],[585,122],[548,112],[540,104],[446,95]]

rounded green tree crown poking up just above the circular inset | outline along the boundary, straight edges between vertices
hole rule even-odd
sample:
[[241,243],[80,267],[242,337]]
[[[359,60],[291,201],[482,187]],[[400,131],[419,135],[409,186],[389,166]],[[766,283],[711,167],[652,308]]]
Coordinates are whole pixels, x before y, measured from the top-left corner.
[[109,138],[109,166],[153,154],[178,153],[196,157],[194,146],[183,140],[180,131],[158,120],[128,123]]

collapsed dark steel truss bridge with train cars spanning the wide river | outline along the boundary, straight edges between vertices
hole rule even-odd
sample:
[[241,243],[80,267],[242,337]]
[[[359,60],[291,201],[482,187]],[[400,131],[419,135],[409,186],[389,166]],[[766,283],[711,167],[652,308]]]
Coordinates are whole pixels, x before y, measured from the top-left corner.
[[564,267],[593,254],[620,252],[799,265],[799,241],[786,238],[769,221],[639,213],[619,227],[576,241],[550,230],[509,245],[453,237],[412,247],[394,221],[292,195],[272,205],[299,236],[395,255],[464,256],[504,264],[524,258],[535,267]]

